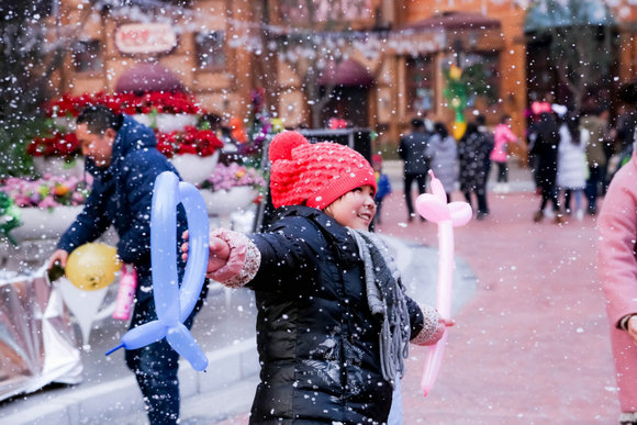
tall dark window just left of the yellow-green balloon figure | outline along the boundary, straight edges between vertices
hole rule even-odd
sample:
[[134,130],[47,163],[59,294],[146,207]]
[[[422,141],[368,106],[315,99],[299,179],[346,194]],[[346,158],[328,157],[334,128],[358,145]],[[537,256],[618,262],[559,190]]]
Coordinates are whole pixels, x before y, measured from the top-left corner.
[[431,56],[407,59],[407,111],[434,108],[434,60]]

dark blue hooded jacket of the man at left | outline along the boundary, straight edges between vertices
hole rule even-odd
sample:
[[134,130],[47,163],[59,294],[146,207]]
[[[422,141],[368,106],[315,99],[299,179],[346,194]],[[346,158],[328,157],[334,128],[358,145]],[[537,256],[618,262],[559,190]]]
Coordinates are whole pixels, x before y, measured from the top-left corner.
[[[68,253],[92,242],[113,225],[120,236],[118,255],[137,269],[137,300],[152,294],[150,209],[155,179],[164,171],[179,176],[170,161],[157,150],[155,133],[123,115],[123,124],[113,143],[112,160],[99,168],[86,159],[86,171],[93,176],[91,193],[82,212],[57,244]],[[186,215],[179,208],[178,239],[186,230]],[[179,241],[180,242],[180,241]],[[179,256],[178,256],[179,257]]]

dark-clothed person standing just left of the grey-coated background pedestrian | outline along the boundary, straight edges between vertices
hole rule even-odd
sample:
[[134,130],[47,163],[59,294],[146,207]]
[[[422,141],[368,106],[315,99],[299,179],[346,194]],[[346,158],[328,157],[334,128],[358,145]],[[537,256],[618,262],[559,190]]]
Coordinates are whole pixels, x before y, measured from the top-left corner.
[[[429,172],[431,160],[426,155],[429,144],[431,133],[425,130],[425,123],[421,119],[412,120],[412,131],[400,141],[399,156],[404,160],[404,195],[407,205],[407,222],[412,222],[416,214],[412,200],[412,186],[415,181],[418,194],[425,193],[427,172]],[[423,217],[421,220],[424,221]]]

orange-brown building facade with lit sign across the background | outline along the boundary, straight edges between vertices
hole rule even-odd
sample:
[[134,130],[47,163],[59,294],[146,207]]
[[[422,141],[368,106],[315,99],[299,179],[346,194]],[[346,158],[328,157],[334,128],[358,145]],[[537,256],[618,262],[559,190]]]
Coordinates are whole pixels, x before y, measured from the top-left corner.
[[[260,89],[268,112],[286,126],[322,126],[340,116],[376,130],[381,143],[391,145],[425,111],[454,121],[444,96],[444,72],[451,64],[479,65],[489,89],[489,96],[470,99],[468,119],[478,111],[495,123],[509,113],[519,135],[530,92],[551,85],[529,82],[529,74],[535,81],[546,70],[537,66],[550,64],[535,60],[543,57],[543,47],[525,34],[533,5],[525,1],[138,3],[87,10],[83,1],[58,0],[52,22],[77,29],[53,80],[59,93],[114,92],[138,78],[135,69],[156,64],[222,116],[247,120],[254,90]],[[619,85],[635,77],[632,22],[637,12],[624,0],[614,1],[612,11],[617,20],[613,83]],[[529,46],[535,55],[530,71]],[[548,81],[543,78],[537,80]]]

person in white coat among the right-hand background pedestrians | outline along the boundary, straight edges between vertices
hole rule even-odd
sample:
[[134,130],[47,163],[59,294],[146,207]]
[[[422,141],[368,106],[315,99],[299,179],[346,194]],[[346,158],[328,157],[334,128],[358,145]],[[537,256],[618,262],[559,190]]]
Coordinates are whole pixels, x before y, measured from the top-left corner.
[[571,197],[575,199],[575,217],[582,220],[582,193],[586,184],[585,149],[589,142],[589,132],[580,126],[580,116],[574,112],[567,112],[560,116],[560,144],[558,146],[557,184],[565,193],[563,208],[571,214]]

